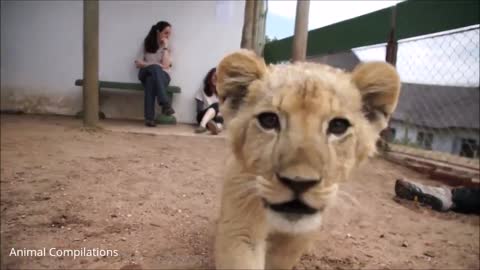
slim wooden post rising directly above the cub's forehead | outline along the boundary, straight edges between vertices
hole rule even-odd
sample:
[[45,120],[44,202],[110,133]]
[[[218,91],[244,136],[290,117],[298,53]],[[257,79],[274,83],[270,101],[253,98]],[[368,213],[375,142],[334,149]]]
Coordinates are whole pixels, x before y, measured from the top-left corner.
[[308,11],[310,0],[297,0],[295,33],[293,36],[292,61],[304,61],[307,56]]

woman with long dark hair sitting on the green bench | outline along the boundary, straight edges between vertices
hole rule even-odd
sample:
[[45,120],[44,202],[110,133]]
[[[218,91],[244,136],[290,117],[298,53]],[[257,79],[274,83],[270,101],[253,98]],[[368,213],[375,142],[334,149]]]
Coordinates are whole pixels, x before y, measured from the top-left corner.
[[170,58],[169,38],[171,25],[160,21],[153,25],[144,40],[144,57],[135,60],[139,68],[138,79],[145,88],[144,117],[145,125],[154,127],[155,124],[155,98],[162,107],[162,113],[172,115],[171,100],[167,95],[167,87],[170,83]]

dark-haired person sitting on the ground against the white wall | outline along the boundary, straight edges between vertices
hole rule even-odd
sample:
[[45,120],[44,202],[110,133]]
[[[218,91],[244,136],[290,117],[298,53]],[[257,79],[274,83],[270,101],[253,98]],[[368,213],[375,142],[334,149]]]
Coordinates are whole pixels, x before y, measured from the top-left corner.
[[195,129],[196,133],[210,130],[212,134],[216,135],[222,130],[223,117],[219,112],[216,85],[216,69],[212,68],[203,80],[203,89],[200,89],[195,96],[197,102],[197,122],[199,124]]

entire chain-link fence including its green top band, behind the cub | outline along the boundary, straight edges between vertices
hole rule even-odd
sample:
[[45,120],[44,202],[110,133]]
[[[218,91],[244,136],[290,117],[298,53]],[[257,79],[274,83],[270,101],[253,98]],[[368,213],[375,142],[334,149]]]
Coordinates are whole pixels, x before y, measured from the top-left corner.
[[[310,30],[307,61],[346,71],[364,61],[395,63],[402,91],[379,149],[478,170],[478,6],[478,1],[403,1]],[[357,47],[362,45],[368,46]],[[265,59],[288,61],[292,46],[293,37],[271,42]]]

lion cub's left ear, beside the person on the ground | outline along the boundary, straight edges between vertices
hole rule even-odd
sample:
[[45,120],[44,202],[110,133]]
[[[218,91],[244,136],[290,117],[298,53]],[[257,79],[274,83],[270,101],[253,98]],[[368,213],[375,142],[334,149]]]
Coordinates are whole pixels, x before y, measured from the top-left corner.
[[264,60],[252,51],[242,49],[225,56],[217,67],[217,92],[222,107],[228,112],[238,110],[249,94],[249,85],[262,79],[266,71]]

